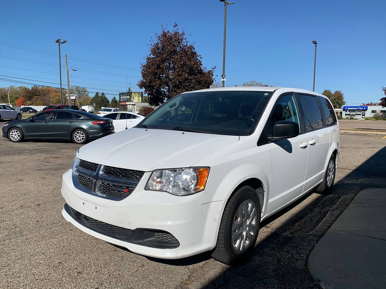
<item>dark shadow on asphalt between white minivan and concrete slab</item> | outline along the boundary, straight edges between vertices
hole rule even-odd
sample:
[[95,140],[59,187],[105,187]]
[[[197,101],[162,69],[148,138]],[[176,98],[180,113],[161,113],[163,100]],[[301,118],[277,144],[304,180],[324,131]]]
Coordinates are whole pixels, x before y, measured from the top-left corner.
[[[259,236],[254,252],[243,264],[227,266],[201,288],[318,288],[308,273],[308,256],[357,193],[386,186],[386,176],[380,169],[385,162],[386,147],[336,183],[330,195],[318,195],[271,234]],[[270,227],[274,220],[309,196],[310,193],[264,220],[262,228]]]

